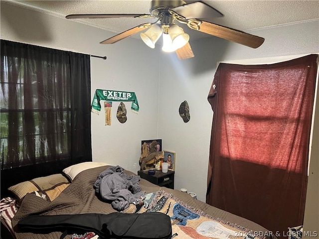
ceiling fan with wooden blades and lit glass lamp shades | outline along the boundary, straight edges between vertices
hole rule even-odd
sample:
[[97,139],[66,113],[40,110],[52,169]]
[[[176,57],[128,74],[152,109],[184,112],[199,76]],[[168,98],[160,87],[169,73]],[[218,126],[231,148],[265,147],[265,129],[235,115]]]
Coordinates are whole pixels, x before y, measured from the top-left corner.
[[151,14],[71,14],[67,19],[75,18],[158,18],[153,23],[144,23],[127,31],[108,38],[100,43],[112,44],[138,32],[142,40],[151,48],[162,35],[163,47],[166,52],[176,51],[179,59],[194,57],[190,44],[189,35],[176,23],[186,24],[190,29],[201,31],[213,36],[230,40],[245,46],[257,48],[264,42],[264,38],[254,36],[243,31],[217,25],[200,19],[207,17],[223,16],[218,10],[203,1],[186,3],[183,0],[152,0],[150,7]]

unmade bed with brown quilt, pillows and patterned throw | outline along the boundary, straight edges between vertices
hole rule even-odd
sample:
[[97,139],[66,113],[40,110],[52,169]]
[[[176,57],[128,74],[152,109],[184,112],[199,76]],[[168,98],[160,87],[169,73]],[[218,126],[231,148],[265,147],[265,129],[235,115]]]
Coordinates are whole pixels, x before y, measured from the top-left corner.
[[[101,173],[114,169],[106,164],[88,162],[88,167],[75,170],[78,165],[69,167],[69,171],[22,182],[9,188],[15,196],[1,202],[1,224],[6,231],[11,230],[14,239],[59,239],[62,231],[46,234],[39,232],[21,232],[18,221],[28,215],[73,215],[73,214],[110,214],[119,212],[96,192],[94,184]],[[101,166],[104,165],[104,166]],[[134,172],[123,169],[129,177],[139,177]],[[45,182],[45,186],[43,186]],[[262,226],[244,218],[212,207],[193,199],[189,194],[178,190],[160,187],[140,179],[138,182],[143,197],[129,203],[122,213],[161,212],[171,219],[172,234],[175,239],[276,239],[271,232]],[[42,187],[42,188],[41,188]],[[11,217],[5,220],[4,209],[10,208]],[[6,211],[6,214],[8,212]],[[185,215],[186,214],[186,215]],[[152,223],[152,222],[150,222]],[[1,227],[2,227],[1,226]],[[1,230],[2,231],[2,230]],[[5,232],[1,232],[4,235]],[[86,235],[67,235],[67,239],[94,238],[94,232]],[[2,236],[1,236],[2,238]],[[3,236],[4,239],[4,236]]]

